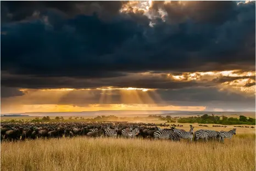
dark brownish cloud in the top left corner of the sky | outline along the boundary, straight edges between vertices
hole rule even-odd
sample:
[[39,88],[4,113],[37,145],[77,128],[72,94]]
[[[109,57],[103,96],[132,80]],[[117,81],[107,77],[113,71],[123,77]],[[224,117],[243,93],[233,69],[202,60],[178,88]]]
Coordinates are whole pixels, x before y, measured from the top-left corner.
[[[66,18],[77,14],[91,15],[94,12],[101,15],[116,15],[126,1],[3,1],[1,2],[1,21],[12,22],[30,18],[36,11],[40,15],[48,10],[62,13]],[[2,10],[3,9],[3,10]]]

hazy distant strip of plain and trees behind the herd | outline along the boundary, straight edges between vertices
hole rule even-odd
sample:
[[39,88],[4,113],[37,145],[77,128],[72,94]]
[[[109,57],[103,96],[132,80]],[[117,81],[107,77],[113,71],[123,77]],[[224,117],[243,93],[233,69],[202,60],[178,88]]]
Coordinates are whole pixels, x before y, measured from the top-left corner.
[[[210,115],[203,115],[203,116],[194,116],[194,117],[171,117],[171,116],[161,116],[161,115],[149,115],[147,117],[117,117],[114,115],[109,116],[97,116],[94,118],[84,118],[84,117],[69,117],[68,119],[64,119],[63,117],[55,117],[51,119],[49,116],[44,116],[42,119],[36,117],[35,119],[30,120],[30,122],[92,122],[92,121],[152,121],[152,120],[159,120],[159,121],[166,121],[167,123],[212,123],[212,124],[224,124],[224,125],[231,125],[231,124],[249,124],[255,125],[255,118],[247,118],[245,116],[240,116],[239,118],[233,117],[226,117],[226,116],[210,116]],[[8,122],[24,122],[23,119],[17,120],[10,120]]]

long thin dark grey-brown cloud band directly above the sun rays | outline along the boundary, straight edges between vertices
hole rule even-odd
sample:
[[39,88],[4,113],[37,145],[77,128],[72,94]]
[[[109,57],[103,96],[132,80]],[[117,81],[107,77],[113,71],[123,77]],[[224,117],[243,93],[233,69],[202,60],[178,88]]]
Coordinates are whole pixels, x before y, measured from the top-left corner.
[[[99,88],[99,87],[136,87],[136,88],[149,88],[149,89],[181,89],[186,87],[198,86],[215,86],[215,83],[197,83],[191,82],[176,82],[170,78],[151,77],[143,78],[142,76],[135,77],[114,77],[114,78],[94,78],[94,79],[81,79],[70,77],[27,77],[27,76],[14,76],[1,77],[1,83],[8,87],[17,87],[16,83],[21,88]],[[54,83],[54,84],[53,84]]]

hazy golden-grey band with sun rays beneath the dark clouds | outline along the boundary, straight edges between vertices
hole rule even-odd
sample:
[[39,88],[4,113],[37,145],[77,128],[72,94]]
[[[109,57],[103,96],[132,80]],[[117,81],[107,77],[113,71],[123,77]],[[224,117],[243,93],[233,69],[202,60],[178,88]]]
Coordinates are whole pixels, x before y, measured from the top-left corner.
[[[75,105],[85,107],[89,104],[149,104],[174,106],[221,106],[232,109],[234,104],[255,106],[255,96],[220,91],[218,88],[183,88],[178,90],[98,90],[98,89],[26,89],[23,96],[2,99],[3,103],[23,105]],[[215,106],[215,107],[216,107]],[[226,106],[226,107],[225,107]]]

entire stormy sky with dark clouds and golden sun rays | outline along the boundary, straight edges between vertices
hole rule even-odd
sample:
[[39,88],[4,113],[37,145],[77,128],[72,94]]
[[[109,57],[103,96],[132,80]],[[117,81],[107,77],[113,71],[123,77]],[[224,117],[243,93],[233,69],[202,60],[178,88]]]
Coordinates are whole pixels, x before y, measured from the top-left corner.
[[255,1],[1,1],[1,113],[255,111]]

